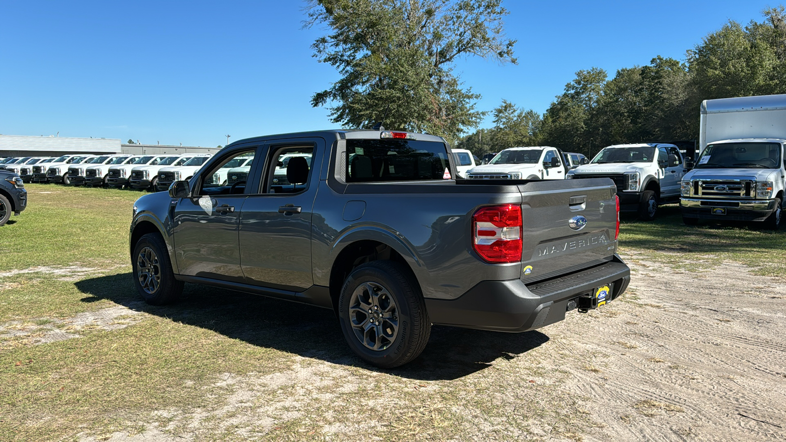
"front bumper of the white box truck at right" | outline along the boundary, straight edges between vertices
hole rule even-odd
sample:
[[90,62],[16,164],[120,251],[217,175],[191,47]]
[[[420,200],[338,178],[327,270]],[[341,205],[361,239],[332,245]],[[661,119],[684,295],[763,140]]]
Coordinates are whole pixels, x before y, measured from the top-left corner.
[[[716,209],[722,210],[716,213]],[[775,200],[739,201],[681,198],[680,210],[686,218],[763,221],[775,212]]]

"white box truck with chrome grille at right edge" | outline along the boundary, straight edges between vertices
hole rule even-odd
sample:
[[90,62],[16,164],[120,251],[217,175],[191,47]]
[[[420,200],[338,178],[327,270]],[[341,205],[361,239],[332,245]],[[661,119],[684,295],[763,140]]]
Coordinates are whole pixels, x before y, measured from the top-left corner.
[[780,227],[786,186],[786,95],[701,103],[700,155],[681,181],[685,224],[753,221]]

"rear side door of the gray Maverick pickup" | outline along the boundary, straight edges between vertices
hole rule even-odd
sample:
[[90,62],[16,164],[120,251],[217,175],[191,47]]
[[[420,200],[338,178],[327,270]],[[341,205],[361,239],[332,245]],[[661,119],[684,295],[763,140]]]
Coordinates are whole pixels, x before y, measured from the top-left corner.
[[324,152],[322,138],[267,145],[259,193],[241,214],[241,267],[249,284],[295,292],[314,284],[311,210]]

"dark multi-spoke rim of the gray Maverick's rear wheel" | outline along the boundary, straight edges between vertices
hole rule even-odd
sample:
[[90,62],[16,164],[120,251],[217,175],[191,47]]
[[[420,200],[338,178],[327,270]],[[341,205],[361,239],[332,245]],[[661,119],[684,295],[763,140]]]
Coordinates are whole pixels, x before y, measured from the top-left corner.
[[391,293],[377,282],[358,285],[349,303],[354,336],[365,348],[380,352],[399,336],[399,308]]

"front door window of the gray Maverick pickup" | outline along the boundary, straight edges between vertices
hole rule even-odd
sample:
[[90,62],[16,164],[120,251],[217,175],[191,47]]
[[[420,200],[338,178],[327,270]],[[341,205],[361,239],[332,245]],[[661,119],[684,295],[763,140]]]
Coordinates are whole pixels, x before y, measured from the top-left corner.
[[232,153],[202,174],[200,195],[245,193],[256,147]]

